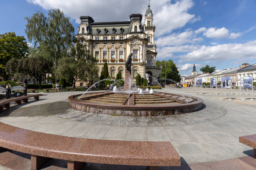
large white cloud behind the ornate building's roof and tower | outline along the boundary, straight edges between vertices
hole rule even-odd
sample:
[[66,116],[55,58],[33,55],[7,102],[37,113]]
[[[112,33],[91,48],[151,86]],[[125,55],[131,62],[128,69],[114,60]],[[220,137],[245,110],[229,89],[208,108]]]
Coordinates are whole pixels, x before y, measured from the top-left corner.
[[[113,22],[130,20],[129,15],[141,13],[145,15],[147,0],[27,0],[43,7],[45,10],[59,8],[65,15],[80,23],[80,16],[91,16],[95,22]],[[121,3],[120,3],[121,2]],[[192,0],[154,0],[150,2],[153,12],[153,24],[156,36],[160,36],[177,28],[182,28],[191,20],[200,20],[187,11],[194,5]],[[113,6],[113,4],[116,4]],[[134,5],[136,4],[136,5]],[[144,18],[144,17],[143,17]]]

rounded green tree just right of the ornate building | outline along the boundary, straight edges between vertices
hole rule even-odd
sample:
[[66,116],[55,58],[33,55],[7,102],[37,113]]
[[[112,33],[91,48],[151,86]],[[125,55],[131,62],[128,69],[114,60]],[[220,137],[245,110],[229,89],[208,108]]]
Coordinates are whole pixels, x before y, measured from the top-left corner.
[[[168,61],[165,61],[165,60],[159,61],[159,60],[157,60],[156,61],[156,67],[161,67],[161,66],[162,66],[162,69],[161,69],[162,82],[164,80],[165,69],[166,69],[166,79],[171,79],[171,80],[174,80],[175,82],[180,82],[181,77],[179,75],[179,70],[178,70],[178,68],[176,67],[176,65],[174,64],[174,62],[172,60],[168,60]],[[160,75],[159,75],[159,78],[160,78]],[[167,82],[167,80],[166,80],[166,82]]]

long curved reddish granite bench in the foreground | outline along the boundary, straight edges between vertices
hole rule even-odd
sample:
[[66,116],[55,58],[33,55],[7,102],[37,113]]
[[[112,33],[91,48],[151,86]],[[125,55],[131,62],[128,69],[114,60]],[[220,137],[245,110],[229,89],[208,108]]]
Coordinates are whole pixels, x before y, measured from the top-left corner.
[[38,170],[50,158],[67,160],[68,170],[84,163],[147,166],[181,166],[170,142],[141,142],[72,138],[17,128],[0,122],[0,148],[31,154],[31,170]]

